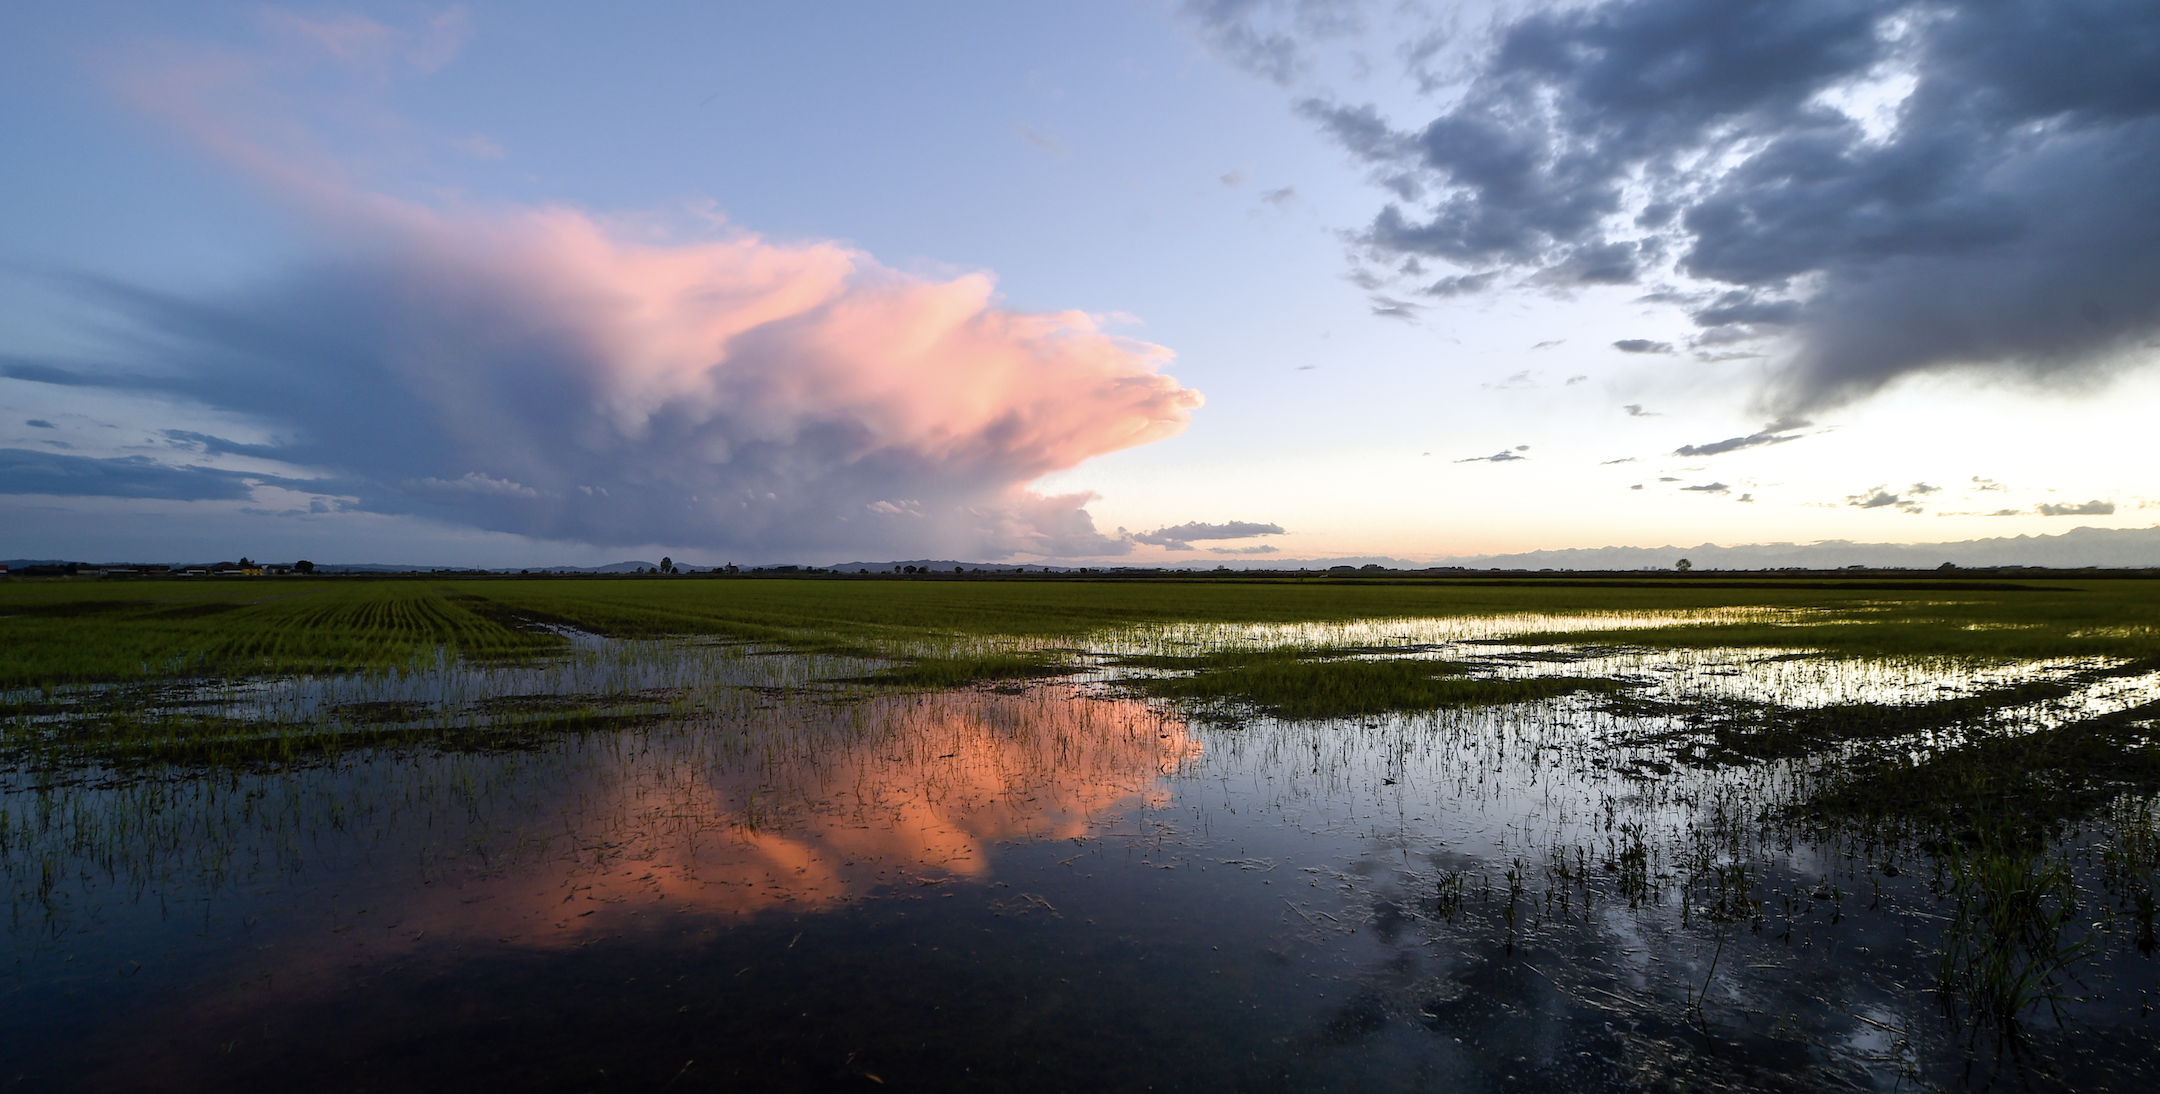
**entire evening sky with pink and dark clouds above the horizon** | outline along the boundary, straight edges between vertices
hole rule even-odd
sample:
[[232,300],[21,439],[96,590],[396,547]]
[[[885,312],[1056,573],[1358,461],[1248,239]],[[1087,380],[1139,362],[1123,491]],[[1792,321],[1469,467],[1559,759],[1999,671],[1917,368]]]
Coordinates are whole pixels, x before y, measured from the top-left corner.
[[0,556],[2160,523],[2130,0],[11,4]]

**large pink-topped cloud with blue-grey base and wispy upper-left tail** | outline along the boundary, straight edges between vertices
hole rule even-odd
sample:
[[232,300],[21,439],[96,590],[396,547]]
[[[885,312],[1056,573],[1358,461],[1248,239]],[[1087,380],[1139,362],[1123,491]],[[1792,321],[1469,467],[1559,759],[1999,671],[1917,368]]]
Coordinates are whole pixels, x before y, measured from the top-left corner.
[[259,117],[261,71],[130,84],[296,210],[315,255],[117,307],[156,329],[190,398],[285,437],[341,508],[620,545],[1123,553],[1091,495],[1028,484],[1173,437],[1201,406],[1162,372],[1166,348],[1009,309],[983,272],[361,188],[289,138],[305,125]]

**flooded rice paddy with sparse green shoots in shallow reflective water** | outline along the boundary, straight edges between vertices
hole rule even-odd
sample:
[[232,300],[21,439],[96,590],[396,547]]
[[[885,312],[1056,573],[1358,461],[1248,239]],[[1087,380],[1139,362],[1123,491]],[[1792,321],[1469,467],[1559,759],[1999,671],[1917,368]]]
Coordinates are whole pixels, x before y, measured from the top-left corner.
[[[1149,627],[948,690],[579,636],[15,696],[0,1090],[2160,1083],[2156,787],[1927,800],[1992,778],[1942,774],[1970,748],[2151,750],[2160,675],[1553,640],[1629,625]],[[1149,690],[1236,649],[1596,688]],[[309,748],[37,744],[117,709]]]

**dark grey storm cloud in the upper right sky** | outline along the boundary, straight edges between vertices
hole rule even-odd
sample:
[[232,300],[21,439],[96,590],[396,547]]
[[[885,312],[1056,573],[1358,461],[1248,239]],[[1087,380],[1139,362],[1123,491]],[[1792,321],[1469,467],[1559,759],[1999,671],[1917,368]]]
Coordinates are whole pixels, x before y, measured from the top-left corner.
[[1575,283],[1670,253],[1724,288],[1704,329],[1791,337],[1786,409],[1933,368],[2091,374],[2160,331],[2151,0],[1538,9],[1454,86],[1410,128],[1298,106],[1395,195],[1374,253]]

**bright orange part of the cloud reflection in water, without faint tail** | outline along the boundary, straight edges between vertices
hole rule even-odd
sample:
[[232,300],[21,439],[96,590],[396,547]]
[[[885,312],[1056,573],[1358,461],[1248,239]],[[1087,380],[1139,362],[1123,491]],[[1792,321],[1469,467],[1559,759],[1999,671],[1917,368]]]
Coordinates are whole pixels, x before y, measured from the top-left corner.
[[570,856],[512,882],[486,925],[475,906],[445,904],[441,928],[557,945],[654,906],[750,915],[985,880],[991,843],[1162,809],[1164,776],[1201,755],[1182,720],[1063,692],[879,698],[765,737],[732,761],[691,746],[609,765],[564,817]]

